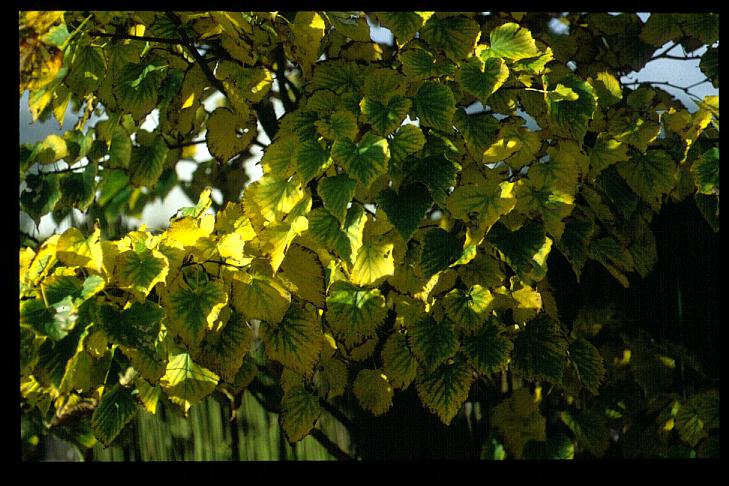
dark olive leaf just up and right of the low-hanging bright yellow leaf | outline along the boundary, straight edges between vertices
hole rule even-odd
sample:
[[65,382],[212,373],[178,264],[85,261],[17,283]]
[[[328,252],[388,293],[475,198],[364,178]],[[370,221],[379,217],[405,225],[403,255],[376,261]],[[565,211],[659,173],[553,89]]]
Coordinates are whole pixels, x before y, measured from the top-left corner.
[[206,336],[198,360],[226,382],[233,383],[252,340],[253,331],[248,323],[243,316],[232,312],[222,330]]

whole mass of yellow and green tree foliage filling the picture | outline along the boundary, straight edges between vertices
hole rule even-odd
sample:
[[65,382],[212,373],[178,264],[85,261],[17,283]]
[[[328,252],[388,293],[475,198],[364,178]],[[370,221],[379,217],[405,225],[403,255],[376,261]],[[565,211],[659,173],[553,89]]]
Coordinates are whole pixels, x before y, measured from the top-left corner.
[[[380,416],[414,387],[450,424],[487,386],[485,456],[493,441],[515,458],[718,454],[718,389],[671,387],[687,352],[606,311],[564,322],[547,265],[559,252],[579,279],[593,260],[627,287],[655,265],[667,201],[694,198],[719,231],[718,97],[691,111],[622,81],[672,42],[713,46],[699,67],[718,87],[718,15],[23,12],[19,27],[34,120],[83,111],[20,147],[20,209],[92,221],[21,241],[21,408],[46,428],[108,445],[139,407],[187,413],[260,380],[295,442],[343,396]],[[213,159],[179,181],[201,143]],[[196,206],[117,234],[175,186]]]

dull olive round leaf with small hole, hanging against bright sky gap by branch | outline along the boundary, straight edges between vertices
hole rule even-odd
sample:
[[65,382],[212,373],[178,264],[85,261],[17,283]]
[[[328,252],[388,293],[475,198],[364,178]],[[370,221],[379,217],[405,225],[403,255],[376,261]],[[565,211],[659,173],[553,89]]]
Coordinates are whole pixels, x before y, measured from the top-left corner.
[[224,163],[245,151],[254,135],[246,117],[218,107],[208,118],[205,140],[213,157]]

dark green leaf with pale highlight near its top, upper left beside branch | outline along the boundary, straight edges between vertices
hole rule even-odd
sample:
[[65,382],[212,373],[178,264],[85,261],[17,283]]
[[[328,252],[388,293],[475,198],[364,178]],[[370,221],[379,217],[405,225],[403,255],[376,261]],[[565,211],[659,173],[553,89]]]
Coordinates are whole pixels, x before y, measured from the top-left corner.
[[119,72],[114,97],[124,111],[142,120],[157,104],[159,88],[167,66],[127,63]]

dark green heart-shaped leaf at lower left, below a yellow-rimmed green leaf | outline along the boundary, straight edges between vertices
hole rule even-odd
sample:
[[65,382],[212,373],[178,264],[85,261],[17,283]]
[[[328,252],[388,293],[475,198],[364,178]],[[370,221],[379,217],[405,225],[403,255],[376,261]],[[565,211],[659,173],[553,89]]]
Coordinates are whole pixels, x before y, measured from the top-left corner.
[[154,354],[165,311],[159,305],[145,301],[134,302],[128,309],[114,305],[99,307],[99,324],[109,340]]

